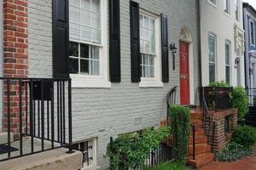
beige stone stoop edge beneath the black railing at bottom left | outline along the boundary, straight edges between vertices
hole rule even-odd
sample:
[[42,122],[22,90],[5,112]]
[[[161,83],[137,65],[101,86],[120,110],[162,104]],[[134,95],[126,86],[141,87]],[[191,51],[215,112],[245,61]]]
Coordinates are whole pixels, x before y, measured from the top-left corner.
[[82,152],[67,154],[67,149],[49,150],[0,162],[2,170],[79,170],[82,168]]

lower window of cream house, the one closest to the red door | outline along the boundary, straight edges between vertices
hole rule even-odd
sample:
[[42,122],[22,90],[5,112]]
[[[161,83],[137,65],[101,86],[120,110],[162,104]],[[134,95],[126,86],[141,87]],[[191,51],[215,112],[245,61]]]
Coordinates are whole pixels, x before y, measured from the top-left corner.
[[216,81],[216,36],[210,34],[208,36],[208,52],[209,52],[209,82]]

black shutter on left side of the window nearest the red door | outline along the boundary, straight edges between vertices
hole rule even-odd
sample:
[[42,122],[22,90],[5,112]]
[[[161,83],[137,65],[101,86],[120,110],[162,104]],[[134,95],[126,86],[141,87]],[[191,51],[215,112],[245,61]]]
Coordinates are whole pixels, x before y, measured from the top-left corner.
[[131,14],[131,82],[141,81],[139,3],[130,1]]

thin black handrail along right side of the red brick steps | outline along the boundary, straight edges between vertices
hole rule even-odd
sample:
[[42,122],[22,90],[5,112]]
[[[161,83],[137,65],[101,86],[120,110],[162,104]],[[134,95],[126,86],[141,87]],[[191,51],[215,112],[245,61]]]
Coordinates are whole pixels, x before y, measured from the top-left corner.
[[[212,145],[212,152],[213,152],[216,124],[213,121],[213,117],[209,114],[209,109],[207,106],[207,100],[206,100],[206,96],[205,96],[205,87],[202,87],[202,108],[203,108],[203,128],[208,137],[207,138],[208,144]],[[212,135],[211,135],[211,130],[212,130]],[[211,138],[211,136],[212,136],[212,138]]]

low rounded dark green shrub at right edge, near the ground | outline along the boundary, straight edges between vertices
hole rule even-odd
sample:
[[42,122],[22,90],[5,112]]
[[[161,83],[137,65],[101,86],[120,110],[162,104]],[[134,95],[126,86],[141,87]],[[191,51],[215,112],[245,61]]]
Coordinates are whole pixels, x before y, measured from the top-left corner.
[[237,126],[232,134],[232,141],[241,144],[247,150],[251,150],[256,142],[255,128],[249,126]]

